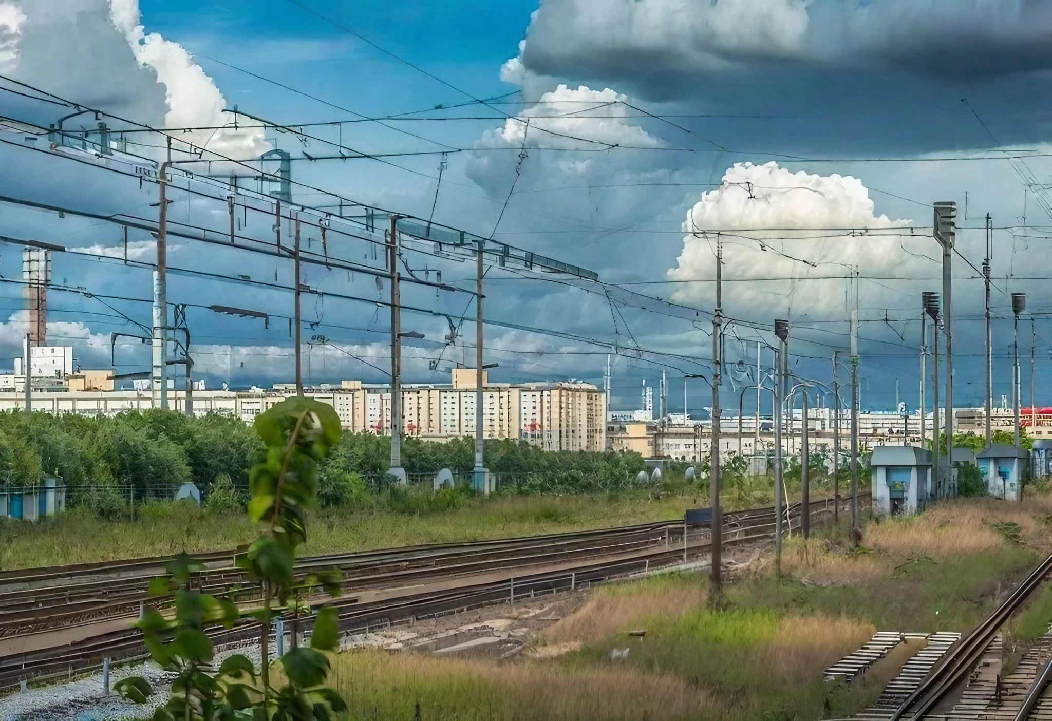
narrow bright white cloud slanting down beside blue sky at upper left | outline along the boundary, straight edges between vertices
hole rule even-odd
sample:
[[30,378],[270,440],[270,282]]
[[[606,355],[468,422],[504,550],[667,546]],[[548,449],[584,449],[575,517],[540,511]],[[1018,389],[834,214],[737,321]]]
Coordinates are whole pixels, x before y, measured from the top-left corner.
[[[157,33],[145,34],[139,0],[110,0],[109,19],[127,39],[139,64],[157,73],[157,81],[165,86],[167,127],[215,127],[232,122],[223,111],[226,99],[186,48]],[[260,128],[199,130],[187,140],[235,160],[256,158],[270,149]]]

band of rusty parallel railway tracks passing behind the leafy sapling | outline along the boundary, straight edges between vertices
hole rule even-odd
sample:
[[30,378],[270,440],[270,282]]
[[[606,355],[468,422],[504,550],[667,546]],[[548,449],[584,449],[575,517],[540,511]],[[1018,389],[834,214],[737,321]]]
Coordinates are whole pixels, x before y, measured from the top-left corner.
[[[842,499],[842,503],[844,500]],[[821,520],[832,503],[810,504]],[[800,504],[790,507],[790,527],[797,528]],[[770,538],[774,509],[725,514],[724,543],[743,544]],[[339,569],[343,593],[330,602],[339,610],[344,636],[412,622],[538,594],[569,591],[610,578],[646,573],[704,555],[707,527],[683,521],[477,541],[428,544],[304,558],[297,573]],[[234,568],[237,552],[199,554],[206,568],[195,584],[210,593],[237,585],[239,598],[252,586]],[[149,580],[163,573],[167,558],[138,559],[0,574],[0,692],[24,679],[58,680],[89,670],[103,658],[144,657],[141,636],[130,627]],[[156,599],[150,599],[155,602]],[[105,623],[101,623],[105,621]],[[114,627],[117,625],[118,627]],[[309,619],[299,621],[308,632]],[[94,633],[98,631],[98,633]],[[64,637],[73,634],[74,640]],[[210,632],[217,647],[258,638],[259,625],[245,621]],[[20,645],[22,644],[22,645]],[[14,651],[13,651],[14,650]]]

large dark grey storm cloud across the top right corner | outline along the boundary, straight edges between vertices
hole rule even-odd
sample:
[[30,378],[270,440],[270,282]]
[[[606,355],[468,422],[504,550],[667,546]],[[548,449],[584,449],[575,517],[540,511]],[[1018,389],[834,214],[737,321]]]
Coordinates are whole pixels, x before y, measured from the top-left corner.
[[[924,152],[1047,137],[1052,4],[1021,0],[545,0],[529,76],[610,86],[728,147]],[[692,124],[691,124],[692,123]],[[757,145],[758,144],[758,145]]]

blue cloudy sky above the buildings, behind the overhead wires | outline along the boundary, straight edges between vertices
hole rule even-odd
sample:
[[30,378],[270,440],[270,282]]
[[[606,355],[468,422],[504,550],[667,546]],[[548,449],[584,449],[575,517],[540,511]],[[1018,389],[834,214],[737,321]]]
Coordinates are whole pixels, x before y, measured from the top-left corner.
[[[209,387],[291,378],[287,254],[197,239],[215,240],[229,221],[219,177],[246,172],[222,159],[258,166],[277,147],[295,158],[294,203],[312,252],[321,229],[311,219],[331,211],[317,206],[339,194],[599,274],[602,283],[487,270],[493,379],[602,385],[611,353],[612,408],[636,408],[642,385],[664,372],[672,410],[686,403],[703,416],[708,380],[684,376],[711,376],[717,245],[730,407],[754,383],[746,366],[757,344],[769,369],[775,317],[792,325],[794,373],[831,384],[856,303],[863,407],[916,408],[919,295],[940,290],[931,204],[955,201],[958,405],[982,405],[987,213],[995,404],[1010,394],[1009,296],[1026,292],[1024,405],[1032,345],[1034,396],[1047,405],[1050,35],[1052,7],[1026,0],[443,0],[393,9],[0,0],[0,116],[46,128],[72,111],[44,102],[46,90],[103,110],[115,132],[135,123],[209,128],[173,133],[215,162],[187,167],[194,177],[174,184],[169,210],[183,229],[169,250],[169,302],[187,305],[195,373]],[[244,117],[238,129],[213,129],[228,125],[234,106],[285,130],[244,128]],[[143,370],[142,344],[119,337],[112,354],[110,333],[149,325],[154,242],[133,228],[125,263],[113,220],[156,223],[156,184],[25,138],[21,126],[0,131],[0,235],[73,251],[54,258],[63,289],[50,293],[50,343],[74,345],[85,368]],[[147,160],[163,152],[158,133],[126,138]],[[340,153],[370,158],[309,160]],[[246,198],[258,188],[240,183]],[[238,232],[269,252],[265,203],[242,205]],[[364,214],[358,207],[345,214]],[[345,267],[308,264],[301,281],[319,291],[304,303],[311,383],[386,378],[389,310],[377,302],[389,287],[370,274],[384,256],[363,222],[329,226],[324,252]],[[473,263],[431,250],[407,249],[405,272],[432,281],[439,270],[459,290],[407,284],[404,301],[420,312],[403,325],[425,335],[407,342],[407,382],[440,383],[452,364],[474,362],[474,325],[462,321],[474,310],[464,292]],[[9,282],[20,253],[0,246],[0,368],[25,328],[21,287]],[[272,317],[264,327],[211,305]]]

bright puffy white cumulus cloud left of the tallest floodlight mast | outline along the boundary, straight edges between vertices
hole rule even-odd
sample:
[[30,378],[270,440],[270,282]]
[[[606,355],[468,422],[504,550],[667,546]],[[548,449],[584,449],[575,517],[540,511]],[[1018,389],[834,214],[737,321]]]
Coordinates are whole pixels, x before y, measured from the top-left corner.
[[[931,273],[931,259],[904,252],[910,223],[876,215],[868,190],[855,178],[794,173],[775,163],[735,164],[722,186],[688,211],[683,251],[668,277],[685,282],[676,300],[711,305],[719,235],[725,276],[757,279],[731,281],[733,292],[725,291],[724,297],[732,297],[732,314],[766,317],[787,309],[792,318],[844,317],[847,281],[836,276],[846,277],[855,267],[906,277]],[[823,280],[808,281],[816,277]],[[867,284],[859,302],[886,305],[886,290]]]

